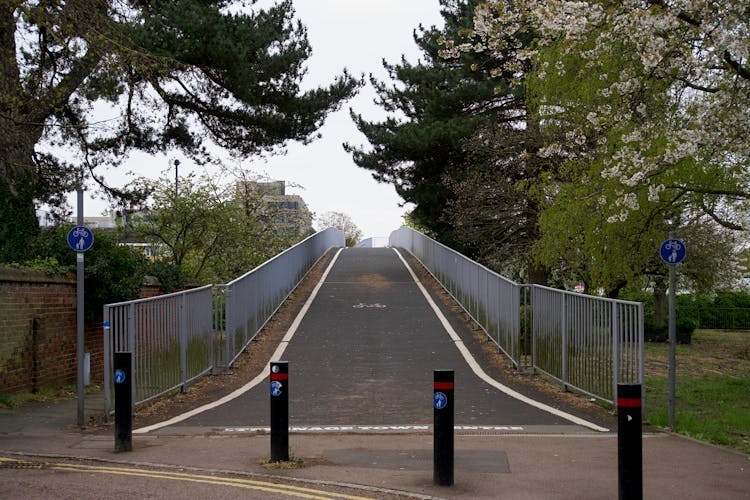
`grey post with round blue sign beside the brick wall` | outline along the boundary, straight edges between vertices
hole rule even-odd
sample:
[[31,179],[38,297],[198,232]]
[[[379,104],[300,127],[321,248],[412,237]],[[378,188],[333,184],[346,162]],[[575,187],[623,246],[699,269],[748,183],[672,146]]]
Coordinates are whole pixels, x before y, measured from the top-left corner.
[[84,390],[84,342],[83,334],[83,252],[91,248],[94,244],[94,233],[83,225],[83,189],[78,189],[78,225],[68,232],[68,245],[76,252],[76,364],[78,373],[76,383],[78,385],[78,411],[77,423],[82,427],[84,422],[83,400],[85,397]]

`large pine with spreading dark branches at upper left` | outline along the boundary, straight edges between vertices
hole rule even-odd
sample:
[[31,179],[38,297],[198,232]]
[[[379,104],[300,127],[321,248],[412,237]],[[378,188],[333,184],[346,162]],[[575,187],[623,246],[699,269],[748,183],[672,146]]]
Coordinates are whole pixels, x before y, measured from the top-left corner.
[[291,0],[235,4],[0,0],[0,257],[38,230],[36,204],[84,178],[126,195],[95,168],[132,150],[207,161],[210,145],[250,155],[315,137],[359,82],[300,91],[311,49]]

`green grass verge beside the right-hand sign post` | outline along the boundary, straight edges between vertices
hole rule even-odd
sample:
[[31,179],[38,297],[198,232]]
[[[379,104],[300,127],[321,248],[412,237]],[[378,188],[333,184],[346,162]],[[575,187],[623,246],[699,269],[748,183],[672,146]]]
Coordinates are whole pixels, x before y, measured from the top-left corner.
[[[646,347],[646,419],[668,426],[668,346]],[[698,330],[677,348],[675,432],[750,453],[750,332]]]

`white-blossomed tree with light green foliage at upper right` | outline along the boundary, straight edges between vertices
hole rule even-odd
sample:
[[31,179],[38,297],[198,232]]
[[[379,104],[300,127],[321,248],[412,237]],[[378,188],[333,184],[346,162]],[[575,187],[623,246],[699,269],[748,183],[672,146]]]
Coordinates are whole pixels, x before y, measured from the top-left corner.
[[614,181],[601,199],[610,222],[627,220],[646,199],[687,201],[742,228],[738,214],[750,198],[746,2],[487,3],[472,41],[450,49],[496,51],[532,30],[536,46],[511,64],[535,68],[527,95],[558,132],[546,153],[597,165],[601,179]]

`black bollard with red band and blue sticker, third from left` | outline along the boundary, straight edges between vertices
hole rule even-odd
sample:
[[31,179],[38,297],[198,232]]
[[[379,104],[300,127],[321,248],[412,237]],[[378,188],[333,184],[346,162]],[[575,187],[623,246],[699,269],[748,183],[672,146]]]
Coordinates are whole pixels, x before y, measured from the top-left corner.
[[440,486],[453,484],[453,388],[453,370],[435,370],[433,481]]

